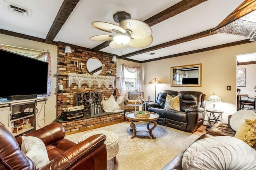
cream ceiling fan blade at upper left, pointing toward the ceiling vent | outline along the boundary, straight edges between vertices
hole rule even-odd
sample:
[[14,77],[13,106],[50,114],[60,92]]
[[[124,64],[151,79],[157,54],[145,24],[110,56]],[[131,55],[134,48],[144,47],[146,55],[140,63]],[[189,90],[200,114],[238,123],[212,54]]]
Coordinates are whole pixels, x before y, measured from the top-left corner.
[[94,26],[95,28],[98,28],[98,29],[100,29],[102,31],[109,32],[109,33],[112,33],[113,30],[117,30],[117,31],[119,31],[121,33],[125,33],[126,32],[120,26],[112,24],[112,23],[108,23],[108,22],[95,21],[95,22],[92,22],[92,26]]

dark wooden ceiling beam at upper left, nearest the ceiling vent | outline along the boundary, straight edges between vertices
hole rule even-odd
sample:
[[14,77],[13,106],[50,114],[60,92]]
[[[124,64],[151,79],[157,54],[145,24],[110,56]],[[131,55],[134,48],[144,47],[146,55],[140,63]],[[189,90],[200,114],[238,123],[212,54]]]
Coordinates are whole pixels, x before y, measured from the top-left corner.
[[60,31],[61,27],[64,25],[68,17],[70,16],[71,12],[76,7],[76,4],[79,0],[64,0],[58,14],[55,17],[55,20],[52,23],[52,26],[45,38],[45,43],[51,43],[58,32]]

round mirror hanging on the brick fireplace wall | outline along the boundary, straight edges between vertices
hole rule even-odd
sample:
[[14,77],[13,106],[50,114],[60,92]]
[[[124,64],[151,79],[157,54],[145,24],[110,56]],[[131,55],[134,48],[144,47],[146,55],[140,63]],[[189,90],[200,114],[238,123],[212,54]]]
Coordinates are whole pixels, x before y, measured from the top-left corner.
[[90,74],[99,75],[102,72],[102,63],[96,57],[88,59],[86,69]]

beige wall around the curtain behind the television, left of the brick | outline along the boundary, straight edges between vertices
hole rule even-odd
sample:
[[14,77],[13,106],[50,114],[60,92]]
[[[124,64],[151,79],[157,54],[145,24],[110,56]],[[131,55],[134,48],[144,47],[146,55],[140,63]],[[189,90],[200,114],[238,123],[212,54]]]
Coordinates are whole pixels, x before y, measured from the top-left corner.
[[[37,41],[31,41],[28,39],[12,37],[4,34],[0,34],[0,44],[12,45],[12,46],[28,48],[28,49],[35,49],[40,51],[47,51],[47,49],[49,50],[51,59],[52,59],[52,96],[50,96],[46,101],[46,125],[54,122],[56,119],[56,98],[57,98],[56,96],[57,95],[57,89],[56,89],[57,46],[46,44],[46,43],[39,43]],[[20,64],[24,64],[24,66],[26,66],[26,63],[20,63]]]

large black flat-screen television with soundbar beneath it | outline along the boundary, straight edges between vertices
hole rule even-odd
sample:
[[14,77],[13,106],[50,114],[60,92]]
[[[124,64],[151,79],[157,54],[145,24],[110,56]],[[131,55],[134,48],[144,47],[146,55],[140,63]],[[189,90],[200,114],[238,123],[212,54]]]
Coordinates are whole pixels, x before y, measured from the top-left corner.
[[47,93],[47,62],[2,49],[0,59],[0,98],[21,100]]

